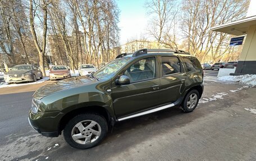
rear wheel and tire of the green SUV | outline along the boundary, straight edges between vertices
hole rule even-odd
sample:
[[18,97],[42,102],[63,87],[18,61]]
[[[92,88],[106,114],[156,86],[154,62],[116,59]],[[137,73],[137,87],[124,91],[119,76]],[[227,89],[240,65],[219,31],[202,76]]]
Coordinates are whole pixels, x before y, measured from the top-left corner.
[[[184,112],[192,112],[199,102],[199,92],[198,90],[191,90],[186,94],[181,107]],[[190,104],[188,104],[190,103]]]

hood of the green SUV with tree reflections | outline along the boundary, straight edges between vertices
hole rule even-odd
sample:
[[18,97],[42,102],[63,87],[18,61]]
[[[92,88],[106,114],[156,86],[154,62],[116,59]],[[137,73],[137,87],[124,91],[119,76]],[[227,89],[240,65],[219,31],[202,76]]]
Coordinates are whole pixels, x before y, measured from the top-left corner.
[[82,85],[89,85],[98,82],[97,80],[91,79],[87,76],[71,77],[70,79],[65,79],[61,81],[54,82],[52,84],[47,84],[39,88],[34,93],[34,98],[42,99],[45,96],[57,93],[59,91],[68,90],[72,88],[77,88]]

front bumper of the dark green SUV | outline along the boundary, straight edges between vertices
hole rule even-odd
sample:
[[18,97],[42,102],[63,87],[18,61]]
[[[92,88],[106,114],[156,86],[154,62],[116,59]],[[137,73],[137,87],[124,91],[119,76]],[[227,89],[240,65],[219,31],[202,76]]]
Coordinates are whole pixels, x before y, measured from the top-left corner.
[[29,112],[29,125],[38,133],[47,137],[58,137],[61,131],[58,130],[61,113],[48,112],[33,114]]

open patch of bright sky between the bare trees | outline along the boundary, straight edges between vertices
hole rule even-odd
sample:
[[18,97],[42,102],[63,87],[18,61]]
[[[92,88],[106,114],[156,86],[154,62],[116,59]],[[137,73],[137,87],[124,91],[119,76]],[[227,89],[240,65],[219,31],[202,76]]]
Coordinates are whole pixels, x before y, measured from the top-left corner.
[[148,24],[145,2],[146,0],[116,0],[120,10],[120,45],[132,38],[139,39],[145,33]]

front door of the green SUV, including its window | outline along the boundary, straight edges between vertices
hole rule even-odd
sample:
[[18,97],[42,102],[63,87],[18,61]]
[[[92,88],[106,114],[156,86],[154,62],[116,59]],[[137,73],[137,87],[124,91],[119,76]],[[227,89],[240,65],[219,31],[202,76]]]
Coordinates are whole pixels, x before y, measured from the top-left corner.
[[112,84],[112,99],[117,117],[158,105],[159,78],[156,57],[140,59],[127,68],[124,75],[130,78],[128,85]]

